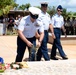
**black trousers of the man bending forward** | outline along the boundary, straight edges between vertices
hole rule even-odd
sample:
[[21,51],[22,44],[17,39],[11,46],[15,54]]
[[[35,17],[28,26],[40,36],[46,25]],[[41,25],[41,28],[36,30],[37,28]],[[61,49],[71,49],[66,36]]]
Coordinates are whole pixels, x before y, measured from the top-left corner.
[[[32,37],[32,38],[27,38],[31,43],[33,43],[34,46],[36,46],[36,38]],[[17,37],[17,56],[16,56],[16,60],[15,62],[21,62],[25,53],[25,49],[26,49],[27,44],[18,36]],[[28,47],[28,46],[27,46]],[[30,47],[28,47],[29,51],[30,51]],[[32,50],[32,55],[31,55],[31,59],[30,61],[34,61],[34,55],[35,55],[35,51]]]

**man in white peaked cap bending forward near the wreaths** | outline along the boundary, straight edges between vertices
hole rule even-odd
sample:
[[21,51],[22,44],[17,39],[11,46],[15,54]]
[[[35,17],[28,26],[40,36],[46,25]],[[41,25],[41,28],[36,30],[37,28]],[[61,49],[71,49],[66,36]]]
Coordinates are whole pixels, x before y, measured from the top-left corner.
[[[39,29],[40,32],[39,40],[42,41],[44,37],[44,28],[42,27],[42,22],[37,20],[41,10],[36,7],[30,7],[29,12],[29,15],[23,17],[20,21],[20,24],[18,25],[17,56],[15,62],[22,62],[26,46],[29,50],[33,45],[36,46],[35,34],[37,32],[37,29]],[[38,42],[38,46],[40,45],[41,43]],[[31,53],[33,54],[29,60],[34,61],[35,51]]]

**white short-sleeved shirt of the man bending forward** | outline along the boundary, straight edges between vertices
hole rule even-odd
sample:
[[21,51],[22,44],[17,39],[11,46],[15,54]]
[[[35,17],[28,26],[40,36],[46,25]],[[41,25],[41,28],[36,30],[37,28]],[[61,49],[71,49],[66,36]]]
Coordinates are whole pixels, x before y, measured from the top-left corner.
[[[25,16],[21,19],[18,30],[23,31],[23,34],[26,38],[32,38],[35,36],[37,29],[39,29],[40,32],[44,32],[42,25],[37,27],[36,24],[37,21],[32,23],[30,16]],[[40,24],[42,23],[40,22]]]

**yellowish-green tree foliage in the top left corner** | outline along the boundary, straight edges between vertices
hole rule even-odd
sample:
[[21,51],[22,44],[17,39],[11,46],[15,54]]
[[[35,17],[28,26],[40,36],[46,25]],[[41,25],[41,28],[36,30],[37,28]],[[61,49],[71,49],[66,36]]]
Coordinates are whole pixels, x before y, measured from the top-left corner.
[[8,14],[9,10],[17,6],[16,0],[0,0],[0,16]]

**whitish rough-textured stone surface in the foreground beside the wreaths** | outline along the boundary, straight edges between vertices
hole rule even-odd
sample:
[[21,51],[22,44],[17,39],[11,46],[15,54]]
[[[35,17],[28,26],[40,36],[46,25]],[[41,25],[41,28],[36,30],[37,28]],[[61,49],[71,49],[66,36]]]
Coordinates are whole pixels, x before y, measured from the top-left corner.
[[28,68],[7,69],[0,75],[76,75],[76,60],[27,62]]

